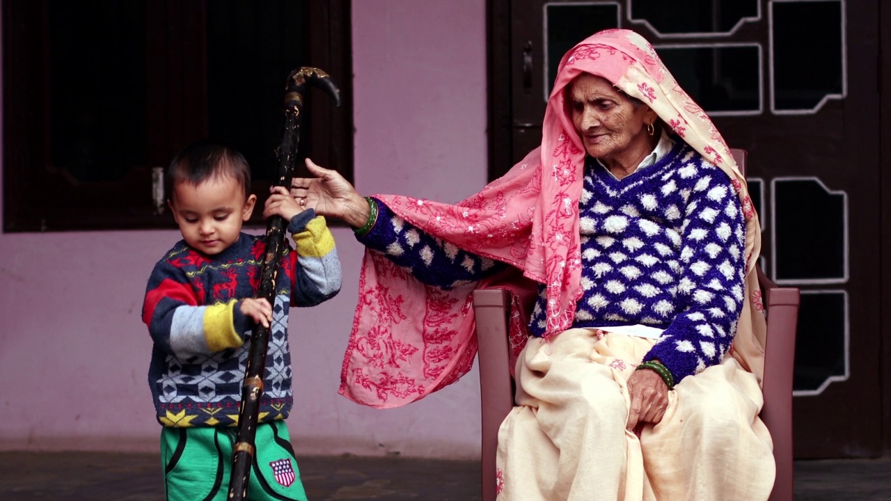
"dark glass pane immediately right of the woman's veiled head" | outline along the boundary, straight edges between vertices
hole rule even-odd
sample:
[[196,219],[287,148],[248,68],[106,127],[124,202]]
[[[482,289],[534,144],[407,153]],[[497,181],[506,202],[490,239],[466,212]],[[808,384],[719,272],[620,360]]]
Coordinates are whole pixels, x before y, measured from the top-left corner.
[[710,113],[761,110],[761,47],[656,47],[678,84]]

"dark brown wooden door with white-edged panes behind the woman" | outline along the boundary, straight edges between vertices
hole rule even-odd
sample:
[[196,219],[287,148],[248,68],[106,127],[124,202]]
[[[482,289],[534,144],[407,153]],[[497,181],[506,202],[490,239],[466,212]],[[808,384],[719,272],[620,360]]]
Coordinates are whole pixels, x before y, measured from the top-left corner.
[[802,291],[796,456],[879,456],[878,3],[490,0],[489,14],[490,177],[539,144],[563,53],[600,29],[642,34],[748,150],[762,267]]

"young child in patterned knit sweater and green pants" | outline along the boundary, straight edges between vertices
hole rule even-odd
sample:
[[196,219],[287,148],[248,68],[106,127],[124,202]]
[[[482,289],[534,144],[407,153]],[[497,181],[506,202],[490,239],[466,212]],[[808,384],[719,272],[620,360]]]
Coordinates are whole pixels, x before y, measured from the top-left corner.
[[166,173],[168,205],[183,240],[151,272],[143,322],[154,348],[149,385],[161,430],[168,500],[225,499],[232,469],[241,383],[251,329],[271,326],[257,424],[250,499],[307,496],[284,419],[291,393],[288,308],[314,306],[340,290],[340,263],[325,220],[282,187],[264,216],[290,221],[290,246],[277,275],[275,302],[253,296],[266,236],[241,232],[257,196],[248,162],[216,144],[192,144]]

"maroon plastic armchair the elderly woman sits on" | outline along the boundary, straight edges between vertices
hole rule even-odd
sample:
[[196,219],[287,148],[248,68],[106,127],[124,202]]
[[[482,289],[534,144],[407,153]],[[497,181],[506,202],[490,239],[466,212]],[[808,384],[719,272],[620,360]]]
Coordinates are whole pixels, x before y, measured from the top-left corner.
[[[733,150],[745,172],[746,152]],[[767,335],[764,347],[764,407],[761,419],[771,431],[777,476],[770,501],[792,501],[792,373],[795,366],[795,335],[799,291],[779,287],[758,268]],[[513,380],[508,346],[511,292],[503,288],[473,292],[477,322],[479,386],[482,400],[482,486],[483,501],[495,501],[495,454],[498,429],[513,408]]]

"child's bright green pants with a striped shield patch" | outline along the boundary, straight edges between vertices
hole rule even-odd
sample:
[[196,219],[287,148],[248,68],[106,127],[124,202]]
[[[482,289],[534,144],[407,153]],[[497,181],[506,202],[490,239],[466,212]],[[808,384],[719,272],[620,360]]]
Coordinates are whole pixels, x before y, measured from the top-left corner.
[[[161,466],[168,501],[222,501],[229,494],[235,428],[161,431]],[[257,425],[248,499],[307,501],[283,421]]]

